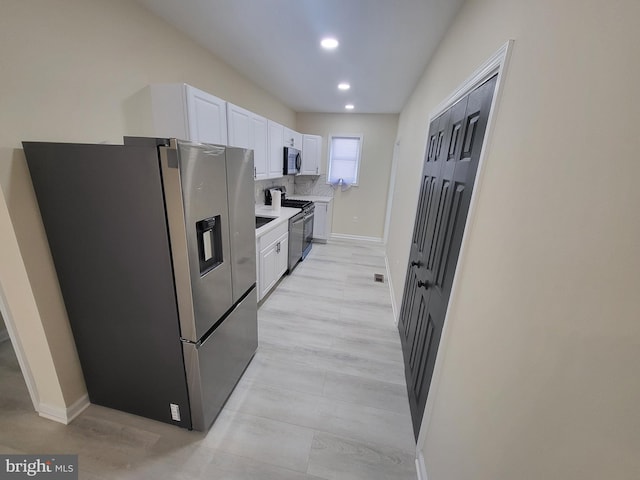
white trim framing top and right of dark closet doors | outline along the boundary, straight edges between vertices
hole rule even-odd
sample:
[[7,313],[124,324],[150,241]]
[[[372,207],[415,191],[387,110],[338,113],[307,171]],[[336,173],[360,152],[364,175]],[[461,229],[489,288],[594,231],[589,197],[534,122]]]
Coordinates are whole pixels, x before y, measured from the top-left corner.
[[[476,87],[480,86],[485,81],[489,80],[492,76],[498,75],[497,83],[493,95],[493,100],[491,101],[491,110],[489,112],[489,119],[487,122],[487,128],[485,131],[484,140],[482,142],[482,150],[480,152],[480,158],[478,161],[478,171],[476,173],[476,177],[474,180],[474,188],[473,193],[471,194],[471,203],[469,204],[469,214],[467,215],[467,220],[465,222],[465,234],[462,237],[462,245],[460,246],[460,258],[462,258],[466,252],[467,245],[467,234],[469,231],[469,225],[473,221],[473,216],[477,203],[477,195],[478,189],[480,185],[480,179],[483,175],[484,170],[484,159],[487,155],[488,146],[491,142],[491,136],[493,134],[493,124],[494,124],[494,115],[502,97],[503,90],[503,75],[506,71],[507,65],[509,63],[509,58],[511,57],[511,51],[513,49],[514,40],[508,40],[498,51],[496,51],[487,61],[485,61],[471,76],[465,80],[456,90],[454,90],[451,95],[449,95],[445,100],[443,100],[429,115],[429,121],[427,124],[430,124],[431,121],[439,116],[441,113],[449,109],[454,103],[463,98],[465,95],[470,93]],[[449,302],[447,304],[447,314],[444,320],[444,326],[442,329],[442,336],[440,338],[440,344],[438,347],[438,353],[436,356],[436,363],[433,369],[433,376],[431,377],[431,383],[429,386],[429,395],[427,397],[427,403],[425,405],[424,414],[422,416],[422,422],[420,424],[420,433],[418,434],[418,441],[416,443],[416,469],[418,472],[418,478],[420,480],[427,480],[427,471],[426,465],[424,463],[424,457],[422,455],[422,450],[424,448],[426,442],[426,431],[429,427],[429,423],[431,422],[431,416],[433,414],[434,407],[434,397],[438,391],[438,384],[440,383],[440,378],[442,376],[442,362],[445,356],[445,351],[447,345],[450,340],[449,330],[450,330],[450,320],[449,320],[449,312],[451,311],[451,302],[456,297],[457,294],[457,285],[458,285],[458,269],[460,268],[462,262],[458,262],[456,266],[456,272],[453,277],[453,285],[451,287],[451,296],[449,297]]]

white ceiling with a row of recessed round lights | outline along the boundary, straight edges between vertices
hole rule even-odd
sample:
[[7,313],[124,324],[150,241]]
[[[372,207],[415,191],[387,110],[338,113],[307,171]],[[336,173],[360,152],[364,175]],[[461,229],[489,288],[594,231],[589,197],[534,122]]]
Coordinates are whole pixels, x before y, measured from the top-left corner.
[[[400,112],[464,2],[138,1],[296,112],[356,113]],[[320,47],[327,35],[336,50]]]

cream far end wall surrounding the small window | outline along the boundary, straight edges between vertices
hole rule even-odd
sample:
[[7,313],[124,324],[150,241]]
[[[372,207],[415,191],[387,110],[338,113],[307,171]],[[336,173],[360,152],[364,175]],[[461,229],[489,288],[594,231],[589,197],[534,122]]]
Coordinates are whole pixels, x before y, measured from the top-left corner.
[[398,115],[298,113],[300,132],[321,135],[321,171],[327,171],[331,134],[362,134],[360,179],[357,187],[334,191],[331,232],[381,239]]

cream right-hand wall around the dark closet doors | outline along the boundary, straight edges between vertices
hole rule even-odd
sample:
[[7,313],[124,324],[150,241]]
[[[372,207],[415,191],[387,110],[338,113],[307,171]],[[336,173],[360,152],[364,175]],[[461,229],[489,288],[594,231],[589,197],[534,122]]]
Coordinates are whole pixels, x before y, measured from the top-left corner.
[[640,477],[638,18],[637,0],[470,0],[400,116],[396,286],[429,113],[515,39],[431,392],[429,480]]

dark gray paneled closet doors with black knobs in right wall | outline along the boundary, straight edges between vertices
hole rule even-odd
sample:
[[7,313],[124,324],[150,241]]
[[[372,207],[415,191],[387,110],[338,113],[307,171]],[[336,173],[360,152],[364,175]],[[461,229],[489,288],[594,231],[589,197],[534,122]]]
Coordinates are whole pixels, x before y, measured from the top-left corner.
[[418,437],[462,244],[496,77],[429,126],[398,329]]

